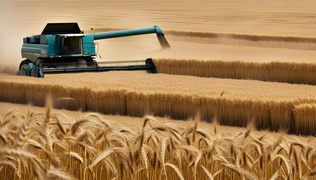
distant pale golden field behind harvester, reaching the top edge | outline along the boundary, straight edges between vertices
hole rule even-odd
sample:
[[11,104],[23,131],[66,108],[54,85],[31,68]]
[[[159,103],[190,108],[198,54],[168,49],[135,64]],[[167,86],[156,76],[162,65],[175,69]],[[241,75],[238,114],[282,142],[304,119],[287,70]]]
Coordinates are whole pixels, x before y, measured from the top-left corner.
[[[60,4],[63,6],[60,6]],[[2,15],[14,26],[42,27],[75,21],[83,28],[158,24],[166,29],[314,36],[315,2],[269,1],[2,1]],[[49,7],[49,9],[47,9]],[[29,11],[29,10],[33,11]],[[19,19],[24,15],[23,20]],[[34,24],[33,17],[37,17]],[[41,29],[33,29],[39,33]]]

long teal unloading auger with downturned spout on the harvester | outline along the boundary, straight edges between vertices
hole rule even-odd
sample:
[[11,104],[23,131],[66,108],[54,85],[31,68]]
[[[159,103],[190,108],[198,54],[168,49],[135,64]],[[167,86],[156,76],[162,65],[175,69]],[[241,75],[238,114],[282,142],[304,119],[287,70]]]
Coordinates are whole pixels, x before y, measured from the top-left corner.
[[162,48],[170,47],[170,44],[165,38],[164,31],[159,26],[154,26],[152,28],[134,29],[134,30],[91,33],[91,34],[87,34],[87,36],[93,36],[94,40],[100,40],[100,39],[119,38],[119,37],[136,36],[136,35],[153,34],[153,33],[156,33],[157,38]]

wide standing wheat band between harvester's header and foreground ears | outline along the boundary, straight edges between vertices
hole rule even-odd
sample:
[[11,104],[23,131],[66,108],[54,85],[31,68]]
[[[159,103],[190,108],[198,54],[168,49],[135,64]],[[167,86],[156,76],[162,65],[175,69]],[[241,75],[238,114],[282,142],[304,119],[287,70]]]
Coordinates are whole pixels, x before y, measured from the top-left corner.
[[[245,126],[254,118],[260,129],[285,128],[291,133],[315,135],[314,117],[303,107],[295,108],[316,103],[316,86],[311,85],[144,71],[56,74],[45,78],[1,76],[0,101],[5,102],[43,106],[50,93],[57,99],[57,108],[69,110],[136,117],[153,113],[175,119],[190,118],[198,111],[203,119],[217,117],[225,125]],[[304,126],[311,128],[301,128]]]

